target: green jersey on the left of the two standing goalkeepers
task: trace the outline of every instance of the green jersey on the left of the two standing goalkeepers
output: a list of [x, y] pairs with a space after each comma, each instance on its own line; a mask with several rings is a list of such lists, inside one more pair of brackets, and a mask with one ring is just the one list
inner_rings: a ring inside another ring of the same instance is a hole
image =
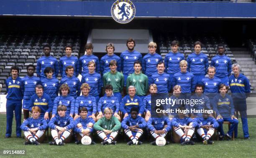
[[116, 71], [115, 74], [112, 74], [110, 71], [103, 74], [103, 84], [104, 87], [107, 84], [113, 86], [113, 92], [123, 92], [124, 77], [123, 74]]

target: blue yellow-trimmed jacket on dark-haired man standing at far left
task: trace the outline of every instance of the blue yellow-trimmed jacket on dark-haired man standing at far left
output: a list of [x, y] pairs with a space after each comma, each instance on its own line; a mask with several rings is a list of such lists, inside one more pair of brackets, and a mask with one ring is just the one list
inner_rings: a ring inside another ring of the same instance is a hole
[[21, 81], [20, 77], [17, 77], [15, 79], [15, 82], [13, 83], [13, 78], [10, 76], [8, 79], [6, 79], [6, 90], [7, 90], [7, 95], [6, 99], [12, 100], [15, 102], [20, 102], [23, 99], [24, 95], [24, 85], [23, 82]]

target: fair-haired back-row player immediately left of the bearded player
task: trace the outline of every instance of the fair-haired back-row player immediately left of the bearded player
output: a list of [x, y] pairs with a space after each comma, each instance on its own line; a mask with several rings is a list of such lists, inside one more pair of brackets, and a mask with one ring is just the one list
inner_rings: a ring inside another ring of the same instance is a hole
[[102, 56], [100, 59], [100, 72], [102, 73], [102, 75], [110, 71], [109, 63], [111, 60], [116, 61], [117, 70], [121, 72], [121, 59], [119, 56], [114, 54], [114, 51], [115, 51], [114, 44], [108, 43], [105, 50], [107, 54], [105, 56]]

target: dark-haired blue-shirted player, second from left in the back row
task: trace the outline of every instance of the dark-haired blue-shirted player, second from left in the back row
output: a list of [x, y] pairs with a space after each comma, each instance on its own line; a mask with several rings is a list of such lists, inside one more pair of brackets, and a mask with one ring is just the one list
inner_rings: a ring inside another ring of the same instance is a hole
[[67, 45], [65, 47], [66, 56], [62, 56], [59, 59], [59, 72], [61, 76], [64, 78], [67, 76], [66, 74], [66, 67], [73, 66], [74, 68], [74, 76], [79, 75], [79, 61], [76, 56], [72, 56], [72, 46]]

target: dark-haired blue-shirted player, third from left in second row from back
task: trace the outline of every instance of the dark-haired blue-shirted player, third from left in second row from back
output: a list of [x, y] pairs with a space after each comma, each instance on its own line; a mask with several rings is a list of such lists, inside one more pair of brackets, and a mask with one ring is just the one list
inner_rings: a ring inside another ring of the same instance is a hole
[[59, 94], [59, 80], [53, 77], [54, 69], [51, 67], [46, 67], [44, 74], [46, 78], [42, 78], [42, 86], [44, 87], [44, 92], [51, 97], [53, 102]]

